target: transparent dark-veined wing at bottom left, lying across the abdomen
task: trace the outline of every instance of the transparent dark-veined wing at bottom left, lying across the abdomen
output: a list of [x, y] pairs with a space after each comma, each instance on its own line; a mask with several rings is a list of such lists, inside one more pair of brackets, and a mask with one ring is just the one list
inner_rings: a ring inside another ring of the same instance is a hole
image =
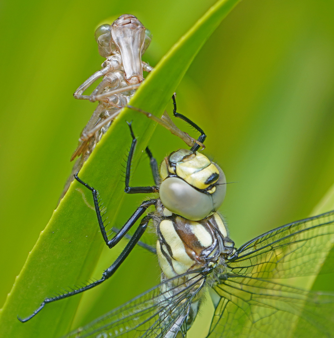
[[185, 337], [182, 324], [205, 276], [197, 271], [185, 284], [171, 287], [179, 278], [159, 284], [66, 337], [173, 338], [180, 328], [181, 337]]

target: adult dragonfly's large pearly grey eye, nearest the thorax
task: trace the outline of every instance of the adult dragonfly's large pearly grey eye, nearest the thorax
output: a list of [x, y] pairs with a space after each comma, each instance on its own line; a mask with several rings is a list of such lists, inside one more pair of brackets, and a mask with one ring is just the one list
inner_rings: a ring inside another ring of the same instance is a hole
[[178, 177], [166, 178], [160, 185], [159, 195], [168, 210], [191, 221], [207, 217], [213, 208], [211, 195], [196, 190]]

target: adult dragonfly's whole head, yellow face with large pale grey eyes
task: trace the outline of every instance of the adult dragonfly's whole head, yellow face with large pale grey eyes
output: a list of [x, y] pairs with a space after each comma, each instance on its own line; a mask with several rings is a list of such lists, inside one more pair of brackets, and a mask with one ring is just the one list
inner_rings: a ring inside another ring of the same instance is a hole
[[162, 161], [159, 195], [171, 212], [192, 221], [219, 209], [226, 194], [222, 169], [198, 151], [179, 149]]

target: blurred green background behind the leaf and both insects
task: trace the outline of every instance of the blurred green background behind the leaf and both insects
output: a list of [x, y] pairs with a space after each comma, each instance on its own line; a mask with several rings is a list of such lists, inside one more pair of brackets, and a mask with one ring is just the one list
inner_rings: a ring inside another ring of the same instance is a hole
[[[214, 2], [2, 2], [0, 304], [57, 205], [93, 112], [94, 104], [72, 93], [103, 62], [95, 28], [120, 14], [136, 15], [153, 34], [143, 59], [154, 66]], [[329, 0], [244, 0], [177, 89], [178, 112], [206, 131], [205, 153], [236, 182], [228, 185], [221, 212], [237, 246], [307, 217], [334, 183], [333, 17]], [[183, 146], [158, 126], [150, 147], [161, 161]], [[133, 182], [152, 182], [144, 156]], [[143, 198], [126, 196], [119, 224]], [[95, 291], [95, 303], [83, 298], [78, 325], [138, 294], [140, 273], [150, 278], [142, 291], [157, 283], [156, 260], [137, 251], [110, 281], [118, 303], [101, 305], [106, 283]], [[104, 256], [101, 269], [116, 254]], [[152, 271], [143, 270], [148, 262]]]

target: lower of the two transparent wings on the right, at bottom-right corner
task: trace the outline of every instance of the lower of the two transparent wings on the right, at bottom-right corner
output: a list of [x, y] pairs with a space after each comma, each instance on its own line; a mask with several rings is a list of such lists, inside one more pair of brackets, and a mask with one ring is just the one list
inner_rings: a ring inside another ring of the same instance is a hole
[[220, 300], [209, 338], [334, 336], [334, 294], [233, 275], [214, 290]]

